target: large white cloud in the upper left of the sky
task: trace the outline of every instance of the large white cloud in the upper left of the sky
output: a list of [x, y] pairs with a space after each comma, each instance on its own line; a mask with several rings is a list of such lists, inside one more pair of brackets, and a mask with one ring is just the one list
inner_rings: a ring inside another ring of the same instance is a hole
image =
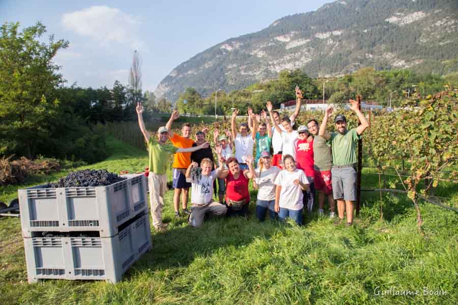
[[112, 42], [127, 45], [133, 50], [144, 46], [138, 38], [141, 22], [116, 8], [92, 6], [64, 14], [62, 23], [66, 29], [99, 41], [102, 46]]

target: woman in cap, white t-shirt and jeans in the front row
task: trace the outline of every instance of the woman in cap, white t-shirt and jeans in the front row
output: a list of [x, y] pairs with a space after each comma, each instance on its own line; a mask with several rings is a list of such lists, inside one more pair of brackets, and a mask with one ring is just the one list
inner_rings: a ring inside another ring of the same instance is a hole
[[257, 189], [256, 218], [264, 221], [266, 212], [269, 210], [270, 219], [277, 219], [275, 211], [275, 185], [274, 181], [281, 170], [272, 166], [272, 158], [269, 151], [264, 150], [260, 154], [259, 167], [255, 171], [253, 186]]

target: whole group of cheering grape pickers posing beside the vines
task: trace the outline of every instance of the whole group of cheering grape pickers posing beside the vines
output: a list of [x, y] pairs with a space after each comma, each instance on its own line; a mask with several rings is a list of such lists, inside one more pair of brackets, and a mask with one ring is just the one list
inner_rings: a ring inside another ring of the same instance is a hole
[[[302, 224], [304, 206], [312, 211], [314, 192], [318, 192], [318, 212], [324, 215], [324, 205], [329, 203], [329, 217], [335, 217], [337, 201], [338, 222], [347, 214], [347, 225], [353, 223], [356, 200], [356, 143], [368, 127], [356, 101], [350, 100], [360, 125], [347, 129], [347, 119], [334, 117], [336, 132], [327, 133], [326, 125], [333, 108], [329, 107], [321, 125], [311, 119], [306, 125], [293, 129], [298, 116], [302, 93], [296, 87], [296, 108], [290, 117], [280, 118], [267, 102], [267, 112], [254, 114], [248, 108], [248, 121], [237, 128], [235, 109], [231, 117], [231, 131], [214, 130], [215, 153], [205, 138], [208, 128], [190, 138], [191, 125], [183, 124], [182, 135], [171, 131], [173, 121], [179, 117], [173, 111], [167, 124], [160, 127], [157, 136], [150, 135], [142, 119], [143, 107], [136, 111], [141, 133], [148, 143], [149, 190], [153, 226], [166, 228], [162, 222], [162, 208], [166, 192], [166, 169], [173, 160], [173, 188], [175, 216], [185, 215], [191, 226], [198, 227], [206, 215], [246, 216], [251, 200], [249, 180], [257, 190], [256, 218], [264, 221], [267, 213], [271, 219], [291, 218]], [[167, 144], [170, 139], [171, 145]], [[253, 147], [256, 154], [253, 156]], [[271, 150], [273, 154], [271, 154]], [[216, 180], [218, 181], [217, 197]], [[188, 210], [189, 188], [191, 208]], [[180, 211], [181, 199], [181, 211]]]

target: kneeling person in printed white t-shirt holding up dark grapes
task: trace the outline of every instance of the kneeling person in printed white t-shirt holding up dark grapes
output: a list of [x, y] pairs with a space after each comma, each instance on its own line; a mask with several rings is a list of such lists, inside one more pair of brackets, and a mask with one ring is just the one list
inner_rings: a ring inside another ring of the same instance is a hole
[[192, 162], [186, 170], [186, 181], [191, 182], [191, 215], [189, 223], [193, 227], [200, 227], [207, 213], [212, 215], [224, 215], [227, 208], [213, 200], [213, 182], [224, 169], [224, 160], [221, 157], [221, 145], [216, 147], [219, 167], [212, 171], [213, 162], [209, 158], [201, 161], [201, 175], [191, 175], [193, 168], [197, 168], [197, 162]]

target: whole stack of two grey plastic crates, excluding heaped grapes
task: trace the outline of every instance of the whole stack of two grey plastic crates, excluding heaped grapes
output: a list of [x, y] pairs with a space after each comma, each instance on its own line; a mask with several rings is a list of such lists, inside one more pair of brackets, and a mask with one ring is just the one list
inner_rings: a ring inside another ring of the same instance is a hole
[[145, 175], [106, 187], [18, 191], [28, 282], [116, 283], [152, 247]]

